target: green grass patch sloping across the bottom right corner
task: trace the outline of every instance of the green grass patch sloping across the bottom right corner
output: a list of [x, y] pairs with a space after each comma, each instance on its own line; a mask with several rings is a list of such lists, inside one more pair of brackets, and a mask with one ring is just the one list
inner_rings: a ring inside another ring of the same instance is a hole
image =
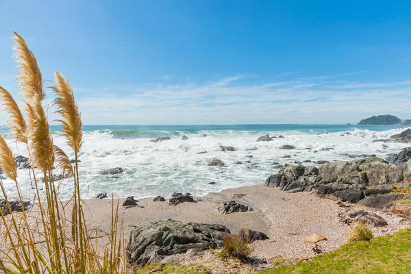
[[280, 266], [260, 274], [279, 273], [411, 273], [411, 228], [371, 241], [343, 245], [308, 262]]

